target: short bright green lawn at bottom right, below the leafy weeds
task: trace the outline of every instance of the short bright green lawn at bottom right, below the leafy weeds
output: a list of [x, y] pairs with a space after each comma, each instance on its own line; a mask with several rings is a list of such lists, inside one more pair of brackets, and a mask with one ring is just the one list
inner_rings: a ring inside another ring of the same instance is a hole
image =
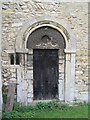
[[56, 110], [56, 111], [38, 112], [34, 116], [36, 118], [87, 118], [88, 112], [87, 112], [87, 107], [79, 106], [79, 107], [74, 107], [73, 109], [67, 111]]

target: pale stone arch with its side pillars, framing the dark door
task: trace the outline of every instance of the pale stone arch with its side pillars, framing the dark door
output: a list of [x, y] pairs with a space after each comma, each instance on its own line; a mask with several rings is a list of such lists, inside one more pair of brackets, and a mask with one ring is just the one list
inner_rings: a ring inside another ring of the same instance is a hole
[[[27, 72], [27, 54], [33, 55], [32, 50], [28, 50], [26, 47], [28, 37], [30, 34], [36, 29], [44, 26], [49, 26], [51, 28], [56, 29], [62, 34], [66, 48], [64, 49], [66, 55], [66, 65], [65, 65], [65, 91], [64, 91], [64, 100], [65, 102], [72, 103], [74, 101], [74, 82], [75, 82], [75, 53], [76, 53], [76, 39], [72, 30], [65, 24], [64, 21], [57, 20], [56, 18], [51, 18], [50, 16], [42, 16], [40, 18], [35, 18], [30, 20], [23, 26], [21, 29], [17, 40], [16, 40], [16, 51], [18, 53], [24, 54], [22, 57], [24, 58], [24, 66], [22, 65], [18, 68], [18, 91], [17, 91], [17, 100], [18, 102], [23, 102], [25, 104], [33, 101], [33, 88], [32, 88], [32, 80], [33, 80], [33, 71]], [[32, 57], [31, 57], [32, 59]], [[30, 68], [33, 69], [33, 68]], [[21, 72], [20, 72], [21, 71]], [[23, 74], [20, 77], [20, 74]], [[31, 75], [31, 80], [28, 79], [28, 75]], [[21, 79], [21, 80], [20, 80]], [[26, 81], [30, 81], [29, 83]], [[21, 84], [26, 84], [25, 89], [27, 89], [28, 84], [29, 89], [25, 90], [24, 88], [20, 88]], [[60, 85], [63, 84], [60, 82]], [[27, 87], [26, 87], [27, 86]], [[20, 90], [19, 90], [20, 89]], [[32, 89], [32, 92], [30, 90]], [[20, 96], [21, 94], [21, 96]], [[18, 97], [19, 96], [19, 97]], [[22, 99], [23, 98], [23, 99]], [[59, 99], [62, 99], [62, 93], [59, 93]]]

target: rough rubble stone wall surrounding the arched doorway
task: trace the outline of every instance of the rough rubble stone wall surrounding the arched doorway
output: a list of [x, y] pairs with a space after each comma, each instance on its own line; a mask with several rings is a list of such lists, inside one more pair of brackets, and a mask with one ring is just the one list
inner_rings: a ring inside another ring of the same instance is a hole
[[[19, 1], [2, 5], [2, 78], [7, 86], [10, 78], [15, 81], [15, 70], [10, 69], [8, 50], [15, 51], [19, 30], [29, 19], [50, 15], [64, 20], [76, 36], [75, 99], [88, 100], [88, 3], [60, 3]], [[12, 76], [12, 77], [11, 77]]]

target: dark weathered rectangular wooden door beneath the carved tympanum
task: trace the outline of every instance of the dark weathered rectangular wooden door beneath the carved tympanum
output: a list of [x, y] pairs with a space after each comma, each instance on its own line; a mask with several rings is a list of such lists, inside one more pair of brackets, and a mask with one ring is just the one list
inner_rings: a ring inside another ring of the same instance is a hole
[[33, 50], [34, 100], [58, 97], [58, 50]]

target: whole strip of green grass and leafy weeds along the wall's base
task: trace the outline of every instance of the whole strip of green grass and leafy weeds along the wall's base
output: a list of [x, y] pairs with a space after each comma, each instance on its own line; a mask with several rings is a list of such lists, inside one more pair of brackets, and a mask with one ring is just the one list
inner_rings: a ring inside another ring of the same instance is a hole
[[14, 105], [12, 112], [4, 112], [3, 118], [88, 118], [88, 105], [69, 106], [53, 101], [35, 106]]

